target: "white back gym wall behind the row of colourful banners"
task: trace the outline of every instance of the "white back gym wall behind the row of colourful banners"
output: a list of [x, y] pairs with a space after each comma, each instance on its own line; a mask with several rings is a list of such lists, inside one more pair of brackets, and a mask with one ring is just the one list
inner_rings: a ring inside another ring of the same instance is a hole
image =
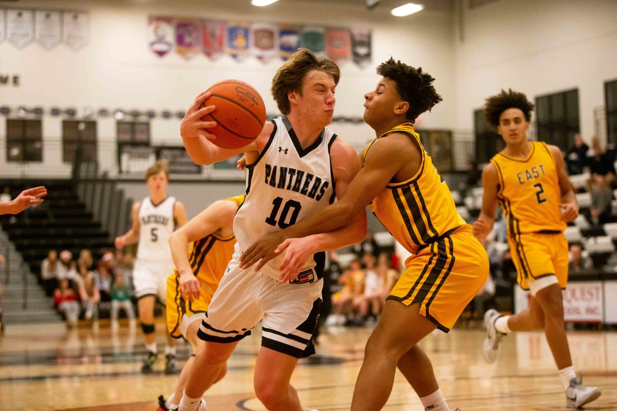
[[[455, 51], [453, 16], [446, 12], [424, 12], [405, 18], [392, 17], [387, 10], [369, 12], [358, 5], [327, 2], [280, 1], [269, 7], [249, 6], [249, 0], [23, 0], [2, 7], [87, 10], [91, 40], [73, 52], [61, 44], [51, 51], [39, 44], [18, 50], [8, 41], [0, 43], [0, 73], [17, 73], [19, 87], [2, 86], [0, 105], [16, 107], [151, 108], [185, 110], [194, 97], [210, 84], [226, 78], [251, 83], [262, 94], [268, 113], [277, 113], [270, 97], [270, 83], [280, 60], [267, 65], [249, 58], [238, 63], [230, 57], [211, 62], [204, 55], [186, 61], [173, 52], [162, 59], [146, 44], [148, 15], [223, 18], [274, 23], [319, 23], [321, 25], [368, 26], [373, 30], [373, 64], [359, 68], [342, 65], [337, 88], [337, 116], [362, 116], [363, 93], [375, 87], [378, 63], [394, 55], [410, 65], [421, 65], [435, 78], [444, 102], [422, 118], [424, 128], [452, 128], [455, 125]], [[342, 18], [344, 17], [344, 18]], [[31, 165], [6, 163], [6, 126], [0, 118], [0, 176], [66, 176], [70, 166], [61, 161], [61, 122], [44, 116], [44, 161]], [[181, 144], [180, 120], [156, 119], [151, 123], [153, 144]], [[113, 170], [115, 120], [98, 120], [99, 163]], [[333, 129], [358, 148], [374, 135], [364, 124], [334, 124]], [[112, 173], [113, 175], [113, 173]]]

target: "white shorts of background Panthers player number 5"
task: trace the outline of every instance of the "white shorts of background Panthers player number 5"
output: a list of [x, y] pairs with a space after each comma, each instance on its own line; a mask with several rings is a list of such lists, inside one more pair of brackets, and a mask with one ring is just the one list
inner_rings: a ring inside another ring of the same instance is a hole
[[172, 260], [144, 261], [136, 259], [135, 267], [133, 267], [135, 296], [139, 299], [147, 295], [154, 295], [161, 304], [165, 304], [167, 277], [172, 272]]

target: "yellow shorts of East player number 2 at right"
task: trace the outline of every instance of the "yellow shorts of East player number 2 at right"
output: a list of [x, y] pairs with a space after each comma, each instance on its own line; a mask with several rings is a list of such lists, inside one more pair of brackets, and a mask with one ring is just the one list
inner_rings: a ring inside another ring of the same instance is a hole
[[517, 234], [510, 236], [508, 243], [516, 267], [516, 281], [523, 290], [529, 290], [530, 283], [553, 274], [559, 286], [566, 288], [568, 240], [563, 233]]

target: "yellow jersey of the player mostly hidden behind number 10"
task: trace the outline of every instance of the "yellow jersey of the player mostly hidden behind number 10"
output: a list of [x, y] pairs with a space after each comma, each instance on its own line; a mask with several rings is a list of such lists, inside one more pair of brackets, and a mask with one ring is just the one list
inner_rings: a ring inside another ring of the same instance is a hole
[[[244, 201], [244, 195], [225, 198], [225, 200], [233, 201], [238, 205], [238, 208]], [[233, 256], [234, 245], [236, 245], [236, 237], [220, 237], [217, 234], [209, 234], [204, 238], [191, 243], [189, 248], [189, 263], [193, 269], [193, 274], [202, 283], [202, 286], [207, 288], [207, 293], [212, 296], [218, 287], [218, 283], [225, 274], [227, 264]], [[178, 274], [174, 269], [175, 274]]]

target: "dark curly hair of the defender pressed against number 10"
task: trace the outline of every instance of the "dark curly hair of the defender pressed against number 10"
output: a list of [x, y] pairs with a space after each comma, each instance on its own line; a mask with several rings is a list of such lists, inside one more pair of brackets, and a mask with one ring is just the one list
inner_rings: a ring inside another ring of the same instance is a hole
[[402, 100], [409, 103], [407, 120], [414, 121], [419, 115], [431, 111], [434, 105], [443, 99], [435, 91], [435, 79], [429, 73], [423, 73], [422, 68], [413, 68], [400, 60], [383, 62], [377, 68], [377, 74], [393, 80]]

